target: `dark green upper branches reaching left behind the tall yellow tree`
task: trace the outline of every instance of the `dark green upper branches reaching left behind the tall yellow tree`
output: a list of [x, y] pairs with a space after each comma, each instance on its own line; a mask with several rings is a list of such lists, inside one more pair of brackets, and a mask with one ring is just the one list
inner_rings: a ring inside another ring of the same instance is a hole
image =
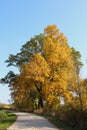
[[33, 54], [43, 53], [42, 52], [42, 40], [44, 39], [44, 35], [40, 34], [31, 38], [30, 41], [26, 42], [20, 52], [16, 55], [10, 54], [8, 60], [5, 62], [8, 64], [7, 66], [16, 66], [19, 67], [23, 64], [29, 63]]

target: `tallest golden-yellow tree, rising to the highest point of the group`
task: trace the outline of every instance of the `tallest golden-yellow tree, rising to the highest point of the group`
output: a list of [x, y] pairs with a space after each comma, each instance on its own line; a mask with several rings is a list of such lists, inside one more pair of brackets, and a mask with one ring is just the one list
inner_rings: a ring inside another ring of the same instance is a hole
[[44, 34], [46, 35], [43, 40], [44, 57], [51, 70], [50, 81], [44, 87], [48, 104], [52, 105], [54, 99], [57, 103], [60, 103], [61, 99], [69, 102], [71, 93], [68, 90], [68, 83], [73, 71], [72, 50], [56, 25], [45, 28]]

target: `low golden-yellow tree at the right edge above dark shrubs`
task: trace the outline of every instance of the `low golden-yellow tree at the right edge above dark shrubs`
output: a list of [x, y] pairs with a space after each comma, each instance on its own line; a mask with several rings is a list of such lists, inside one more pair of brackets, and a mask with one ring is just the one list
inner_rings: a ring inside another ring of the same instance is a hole
[[79, 80], [79, 88], [77, 87], [76, 91], [74, 90], [76, 96], [72, 99], [72, 105], [81, 112], [87, 111], [87, 79]]

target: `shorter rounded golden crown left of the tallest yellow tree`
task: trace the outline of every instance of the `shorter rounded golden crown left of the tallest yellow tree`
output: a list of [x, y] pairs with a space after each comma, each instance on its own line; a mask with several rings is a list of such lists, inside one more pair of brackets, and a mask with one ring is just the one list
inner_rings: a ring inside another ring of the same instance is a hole
[[31, 62], [25, 65], [24, 73], [28, 79], [44, 82], [50, 69], [45, 59], [40, 54], [35, 54]]

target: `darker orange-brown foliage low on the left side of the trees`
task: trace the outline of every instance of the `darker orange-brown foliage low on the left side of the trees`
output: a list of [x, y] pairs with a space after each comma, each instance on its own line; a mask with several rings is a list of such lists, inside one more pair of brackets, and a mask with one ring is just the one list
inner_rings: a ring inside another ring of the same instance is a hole
[[14, 100], [14, 106], [16, 107], [16, 109], [23, 110], [25, 107], [26, 99], [29, 98], [30, 94], [30, 89], [26, 86], [24, 75], [18, 75], [15, 78], [15, 81], [12, 83], [10, 89], [11, 97]]

